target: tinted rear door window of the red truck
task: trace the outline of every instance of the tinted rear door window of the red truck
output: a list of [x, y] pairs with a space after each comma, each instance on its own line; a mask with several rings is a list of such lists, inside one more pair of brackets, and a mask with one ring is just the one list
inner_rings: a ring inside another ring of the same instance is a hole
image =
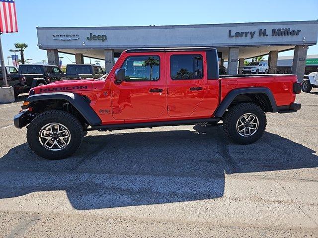
[[174, 80], [203, 78], [202, 55], [172, 55], [170, 73]]

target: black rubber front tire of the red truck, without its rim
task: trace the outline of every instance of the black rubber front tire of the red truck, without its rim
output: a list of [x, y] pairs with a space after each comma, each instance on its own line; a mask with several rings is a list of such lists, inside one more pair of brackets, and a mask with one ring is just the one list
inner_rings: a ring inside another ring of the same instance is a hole
[[[52, 151], [40, 143], [39, 132], [43, 126], [49, 123], [60, 123], [69, 130], [70, 142], [65, 148]], [[72, 155], [79, 148], [83, 134], [83, 128], [76, 117], [68, 112], [53, 110], [44, 112], [31, 121], [26, 138], [35, 154], [48, 160], [59, 160]]]

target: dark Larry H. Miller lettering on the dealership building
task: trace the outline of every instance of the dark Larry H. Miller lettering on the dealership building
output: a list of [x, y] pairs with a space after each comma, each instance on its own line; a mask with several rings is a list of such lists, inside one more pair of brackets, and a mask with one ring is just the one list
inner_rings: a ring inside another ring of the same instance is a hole
[[[271, 36], [298, 36], [300, 32], [301, 30], [291, 30], [290, 28], [273, 28], [271, 31]], [[232, 32], [232, 30], [229, 30], [229, 38], [250, 37], [250, 39], [253, 39], [255, 33], [256, 31]], [[267, 29], [259, 29], [256, 36], [268, 36]]]

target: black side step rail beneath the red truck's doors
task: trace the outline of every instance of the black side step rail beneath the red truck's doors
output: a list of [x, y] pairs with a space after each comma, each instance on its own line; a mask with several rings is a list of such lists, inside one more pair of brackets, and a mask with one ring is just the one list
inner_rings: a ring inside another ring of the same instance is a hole
[[215, 122], [219, 121], [219, 118], [206, 118], [206, 119], [190, 119], [190, 120], [168, 120], [168, 121], [155, 121], [155, 122], [141, 122], [141, 123], [127, 123], [127, 124], [108, 124], [108, 125], [96, 125], [87, 128], [86, 130], [122, 130], [122, 129], [135, 129], [145, 127], [156, 126], [168, 126], [168, 125], [193, 125], [199, 122]]

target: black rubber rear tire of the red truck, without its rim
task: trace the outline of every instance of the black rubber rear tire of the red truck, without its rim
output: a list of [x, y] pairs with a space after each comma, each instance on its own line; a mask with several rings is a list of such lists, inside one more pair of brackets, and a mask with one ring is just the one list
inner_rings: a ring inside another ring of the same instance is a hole
[[[237, 122], [244, 114], [253, 114], [258, 119], [258, 128], [254, 134], [244, 137], [237, 130]], [[266, 129], [266, 116], [264, 111], [252, 103], [240, 103], [233, 106], [223, 118], [223, 128], [225, 135], [232, 141], [239, 144], [251, 144], [257, 141]]]

